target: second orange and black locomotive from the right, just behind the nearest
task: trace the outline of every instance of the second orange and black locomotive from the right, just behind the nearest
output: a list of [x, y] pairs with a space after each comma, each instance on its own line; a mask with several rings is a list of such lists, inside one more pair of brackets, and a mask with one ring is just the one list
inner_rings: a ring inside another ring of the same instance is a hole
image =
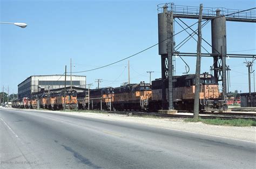
[[149, 109], [151, 94], [151, 85], [145, 82], [116, 87], [112, 102], [113, 109], [146, 111]]

